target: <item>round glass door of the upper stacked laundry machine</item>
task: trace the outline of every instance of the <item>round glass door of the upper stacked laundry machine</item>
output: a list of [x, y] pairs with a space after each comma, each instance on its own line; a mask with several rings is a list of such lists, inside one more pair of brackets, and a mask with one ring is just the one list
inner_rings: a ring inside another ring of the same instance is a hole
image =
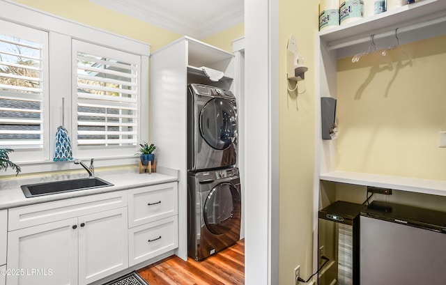
[[201, 137], [209, 146], [224, 150], [237, 132], [236, 111], [228, 100], [215, 98], [206, 103], [200, 114]]

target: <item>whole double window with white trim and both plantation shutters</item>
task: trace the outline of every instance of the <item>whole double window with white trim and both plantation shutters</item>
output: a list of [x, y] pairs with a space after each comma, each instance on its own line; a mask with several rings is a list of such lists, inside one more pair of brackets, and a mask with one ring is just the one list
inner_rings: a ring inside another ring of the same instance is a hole
[[22, 173], [77, 169], [53, 161], [63, 125], [73, 157], [134, 164], [148, 140], [150, 45], [8, 2], [0, 17], [0, 148], [14, 149], [10, 160]]

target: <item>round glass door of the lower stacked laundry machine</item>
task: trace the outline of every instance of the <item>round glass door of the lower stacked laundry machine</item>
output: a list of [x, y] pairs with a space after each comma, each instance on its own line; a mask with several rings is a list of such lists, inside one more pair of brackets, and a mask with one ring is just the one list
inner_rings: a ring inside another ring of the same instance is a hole
[[211, 233], [221, 235], [236, 227], [240, 219], [240, 194], [231, 183], [213, 188], [204, 203], [204, 222]]

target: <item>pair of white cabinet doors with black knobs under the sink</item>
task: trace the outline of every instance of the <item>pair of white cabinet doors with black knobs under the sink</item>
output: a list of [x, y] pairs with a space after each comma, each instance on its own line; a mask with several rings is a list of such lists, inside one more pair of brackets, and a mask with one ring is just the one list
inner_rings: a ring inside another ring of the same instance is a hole
[[128, 268], [127, 219], [118, 208], [10, 231], [7, 284], [83, 285]]

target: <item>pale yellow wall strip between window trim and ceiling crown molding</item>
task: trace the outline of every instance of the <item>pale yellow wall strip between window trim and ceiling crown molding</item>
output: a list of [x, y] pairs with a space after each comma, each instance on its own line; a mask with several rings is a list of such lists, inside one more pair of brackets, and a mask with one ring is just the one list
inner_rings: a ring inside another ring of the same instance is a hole
[[151, 44], [151, 52], [182, 36], [96, 5], [89, 0], [16, 0], [15, 2], [98, 29], [141, 40]]

